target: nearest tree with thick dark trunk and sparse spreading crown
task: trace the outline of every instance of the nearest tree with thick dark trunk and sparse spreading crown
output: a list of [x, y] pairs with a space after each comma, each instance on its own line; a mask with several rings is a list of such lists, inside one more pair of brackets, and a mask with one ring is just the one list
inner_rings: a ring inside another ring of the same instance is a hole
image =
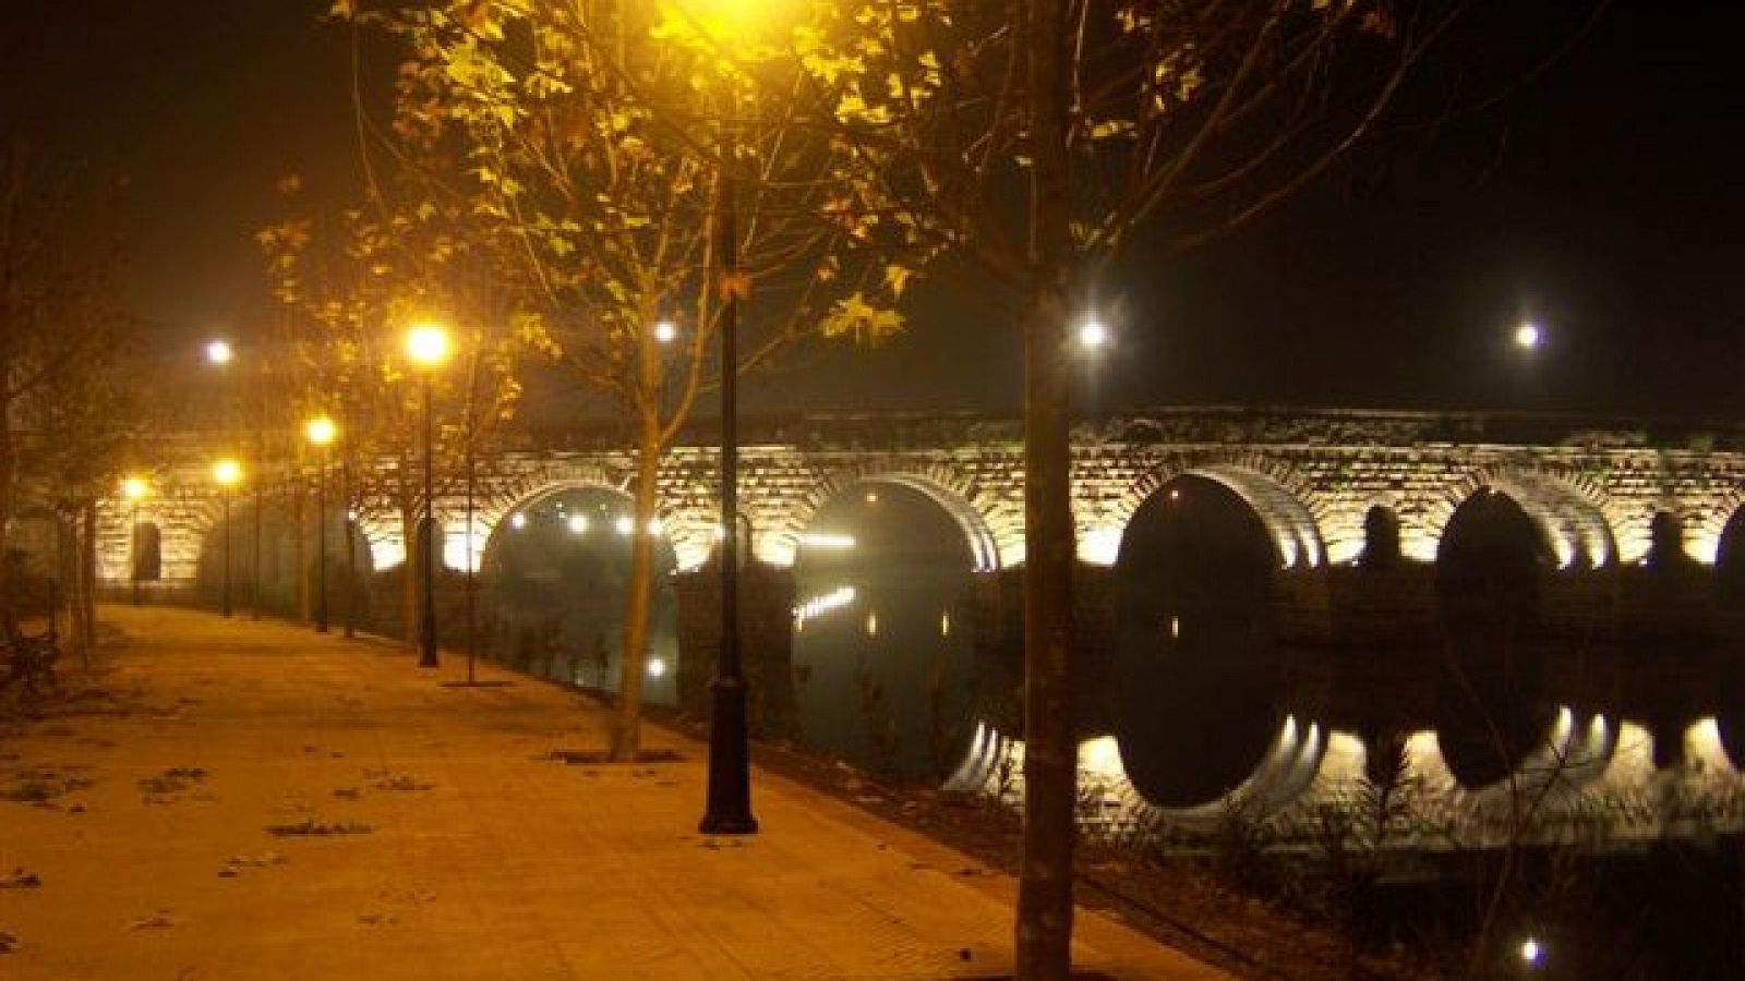
[[1075, 738], [1068, 318], [1309, 185], [1394, 103], [1461, 0], [817, 2], [796, 54], [853, 148], [841, 213], [1014, 321], [1024, 347], [1024, 861], [1017, 972], [1064, 978]]

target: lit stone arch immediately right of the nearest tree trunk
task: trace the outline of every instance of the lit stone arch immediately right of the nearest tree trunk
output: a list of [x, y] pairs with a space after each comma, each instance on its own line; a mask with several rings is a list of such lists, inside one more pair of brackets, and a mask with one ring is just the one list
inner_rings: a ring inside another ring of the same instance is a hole
[[1249, 452], [1183, 454], [1160, 461], [1096, 511], [1077, 515], [1078, 557], [1112, 566], [1133, 515], [1178, 477], [1215, 480], [1253, 508], [1267, 527], [1281, 569], [1312, 569], [1326, 562], [1319, 496], [1293, 468]]

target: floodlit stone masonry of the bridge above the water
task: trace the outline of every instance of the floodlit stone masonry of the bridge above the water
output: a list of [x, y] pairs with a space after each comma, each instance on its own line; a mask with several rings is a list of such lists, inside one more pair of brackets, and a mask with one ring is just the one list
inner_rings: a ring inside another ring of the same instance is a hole
[[[794, 559], [799, 534], [832, 496], [857, 482], [925, 490], [963, 527], [986, 567], [1024, 560], [1023, 443], [1010, 421], [981, 417], [806, 417], [752, 428], [740, 454], [740, 499], [752, 548], [766, 562]], [[1722, 438], [1733, 442], [1721, 443]], [[1715, 559], [1721, 532], [1745, 503], [1745, 443], [1736, 431], [1577, 428], [1485, 415], [1290, 414], [1174, 410], [1080, 426], [1073, 440], [1073, 513], [1080, 555], [1110, 564], [1120, 532], [1146, 497], [1178, 475], [1225, 484], [1263, 518], [1281, 567], [1356, 559], [1363, 518], [1387, 508], [1408, 559], [1433, 562], [1441, 529], [1471, 494], [1509, 494], [1564, 562], [1632, 564], [1647, 552], [1659, 511], [1680, 518], [1686, 552]], [[583, 442], [597, 442], [583, 440]], [[1717, 449], [1719, 445], [1719, 449]], [[161, 466], [161, 494], [140, 504], [159, 525], [162, 576], [192, 581], [222, 497], [195, 445]], [[180, 457], [180, 459], [176, 459]], [[707, 559], [719, 536], [719, 457], [681, 445], [660, 470], [660, 520], [682, 567]], [[475, 553], [506, 515], [564, 487], [628, 492], [623, 449], [518, 447], [480, 463]], [[283, 485], [283, 484], [281, 484]], [[237, 503], [248, 503], [248, 490]], [[398, 564], [405, 543], [387, 501], [359, 501], [375, 569]], [[443, 480], [438, 522], [452, 566], [464, 564], [464, 487]], [[101, 506], [99, 574], [127, 580], [133, 508]]]

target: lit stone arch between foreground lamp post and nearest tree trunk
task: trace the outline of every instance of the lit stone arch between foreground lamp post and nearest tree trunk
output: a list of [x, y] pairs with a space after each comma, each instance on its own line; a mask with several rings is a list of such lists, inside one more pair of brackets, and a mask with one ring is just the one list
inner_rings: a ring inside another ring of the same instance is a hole
[[975, 560], [975, 571], [1000, 569], [1023, 562], [1024, 515], [1005, 501], [979, 490], [965, 480], [951, 461], [871, 459], [843, 466], [813, 484], [792, 508], [766, 529], [757, 529], [757, 557], [777, 566], [792, 566], [799, 536], [818, 510], [855, 484], [897, 484], [925, 494], [956, 522]]

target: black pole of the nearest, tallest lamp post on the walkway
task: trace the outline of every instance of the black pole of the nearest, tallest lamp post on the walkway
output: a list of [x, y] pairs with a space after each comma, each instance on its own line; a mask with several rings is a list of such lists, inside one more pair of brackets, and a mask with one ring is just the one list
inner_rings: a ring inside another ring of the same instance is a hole
[[[735, 99], [735, 106], [738, 99]], [[721, 655], [710, 683], [708, 799], [698, 831], [703, 834], [756, 834], [750, 803], [750, 745], [745, 726], [745, 676], [740, 665], [738, 574], [738, 229], [733, 133], [722, 129], [721, 168], [715, 171], [717, 290], [721, 307]]]

